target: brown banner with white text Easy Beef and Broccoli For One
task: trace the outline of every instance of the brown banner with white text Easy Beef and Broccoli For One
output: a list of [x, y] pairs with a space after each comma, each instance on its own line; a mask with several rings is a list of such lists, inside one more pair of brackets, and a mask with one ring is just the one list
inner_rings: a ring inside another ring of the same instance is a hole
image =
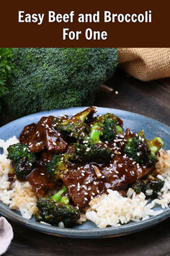
[[169, 1], [1, 1], [1, 47], [168, 47]]

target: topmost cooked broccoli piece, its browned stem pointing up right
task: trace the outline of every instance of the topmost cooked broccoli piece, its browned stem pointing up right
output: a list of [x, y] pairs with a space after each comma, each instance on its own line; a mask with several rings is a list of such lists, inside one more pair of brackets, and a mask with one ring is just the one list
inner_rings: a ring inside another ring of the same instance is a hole
[[65, 132], [66, 135], [69, 135], [70, 137], [76, 138], [77, 140], [83, 140], [89, 133], [89, 126], [84, 121], [88, 116], [93, 116], [95, 112], [95, 107], [86, 108], [84, 111], [57, 124], [56, 128], [61, 129], [61, 131]]

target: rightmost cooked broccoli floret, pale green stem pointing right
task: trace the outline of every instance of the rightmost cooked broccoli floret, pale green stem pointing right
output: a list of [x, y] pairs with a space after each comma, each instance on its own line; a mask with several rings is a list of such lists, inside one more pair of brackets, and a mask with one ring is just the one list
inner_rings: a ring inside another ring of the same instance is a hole
[[128, 139], [124, 152], [137, 163], [152, 167], [157, 161], [156, 153], [163, 146], [164, 142], [160, 137], [156, 137], [151, 141], [146, 140], [142, 130]]

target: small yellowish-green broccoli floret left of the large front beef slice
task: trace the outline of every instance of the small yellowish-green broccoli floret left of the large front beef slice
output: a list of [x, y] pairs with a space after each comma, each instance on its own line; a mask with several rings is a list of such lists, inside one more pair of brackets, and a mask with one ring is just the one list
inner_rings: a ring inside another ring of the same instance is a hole
[[53, 155], [53, 159], [47, 165], [48, 174], [52, 179], [63, 179], [68, 173], [68, 155]]

